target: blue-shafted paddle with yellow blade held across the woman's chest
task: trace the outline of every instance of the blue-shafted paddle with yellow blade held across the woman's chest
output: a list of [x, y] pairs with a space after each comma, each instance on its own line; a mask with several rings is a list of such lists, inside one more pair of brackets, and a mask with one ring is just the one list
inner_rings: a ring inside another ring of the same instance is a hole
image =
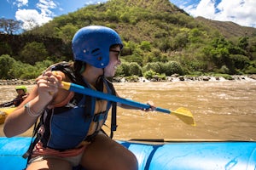
[[[94, 96], [94, 97], [100, 98], [100, 99], [107, 99], [110, 101], [119, 102], [121, 104], [130, 105], [130, 106], [137, 107], [140, 109], [149, 109], [150, 108], [150, 105], [142, 104], [137, 101], [133, 101], [131, 99], [123, 99], [123, 98], [114, 96], [112, 94], [104, 94], [102, 92], [99, 92], [99, 91], [96, 91], [96, 90], [93, 90], [90, 88], [84, 88], [84, 86], [80, 86], [73, 82], [62, 82], [62, 85], [63, 86], [61, 88], [64, 88], [66, 90], [73, 91], [73, 92], [76, 92], [79, 94], [90, 95], [90, 96]], [[183, 107], [178, 108], [176, 111], [169, 111], [166, 109], [162, 109], [160, 107], [156, 107], [155, 111], [160, 111], [160, 112], [168, 113], [168, 114], [172, 113], [172, 115], [177, 116], [180, 120], [182, 120], [186, 124], [195, 126], [194, 117], [193, 117], [192, 113]]]

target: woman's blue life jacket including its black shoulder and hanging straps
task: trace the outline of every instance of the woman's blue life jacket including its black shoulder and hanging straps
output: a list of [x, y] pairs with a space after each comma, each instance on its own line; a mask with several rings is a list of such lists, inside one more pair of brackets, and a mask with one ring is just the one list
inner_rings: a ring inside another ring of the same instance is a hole
[[[81, 82], [74, 76], [73, 70], [67, 62], [54, 65], [51, 71], [62, 71], [74, 83], [91, 88], [87, 82]], [[103, 93], [115, 95], [112, 82], [102, 77]], [[24, 154], [24, 158], [32, 154], [32, 149], [40, 140], [44, 147], [55, 150], [68, 150], [75, 148], [82, 141], [94, 139], [101, 131], [102, 125], [108, 117], [108, 110], [112, 106], [111, 138], [116, 130], [116, 103], [95, 97], [74, 93], [66, 105], [45, 109], [40, 117], [40, 122], [34, 128], [33, 136], [36, 138], [30, 145], [29, 150]], [[39, 133], [38, 129], [44, 127], [44, 133]]]

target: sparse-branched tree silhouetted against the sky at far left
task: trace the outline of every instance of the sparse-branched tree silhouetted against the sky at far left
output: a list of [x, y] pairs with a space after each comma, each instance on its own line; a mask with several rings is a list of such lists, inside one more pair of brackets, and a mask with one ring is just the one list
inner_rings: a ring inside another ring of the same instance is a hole
[[21, 22], [18, 20], [12, 20], [12, 19], [0, 19], [0, 32], [4, 34], [14, 34], [15, 32], [18, 32]]

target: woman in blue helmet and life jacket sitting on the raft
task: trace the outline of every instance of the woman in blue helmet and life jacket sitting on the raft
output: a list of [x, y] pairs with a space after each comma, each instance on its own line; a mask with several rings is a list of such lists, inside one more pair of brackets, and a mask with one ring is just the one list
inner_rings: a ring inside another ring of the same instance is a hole
[[[7, 117], [4, 133], [12, 137], [37, 122], [38, 137], [27, 169], [137, 169], [130, 150], [102, 133], [112, 102], [74, 94], [61, 81], [115, 94], [113, 77], [120, 65], [123, 44], [117, 32], [104, 26], [86, 26], [73, 37], [74, 64], [54, 65], [37, 78], [28, 98]], [[126, 109], [136, 109], [121, 105]]]

